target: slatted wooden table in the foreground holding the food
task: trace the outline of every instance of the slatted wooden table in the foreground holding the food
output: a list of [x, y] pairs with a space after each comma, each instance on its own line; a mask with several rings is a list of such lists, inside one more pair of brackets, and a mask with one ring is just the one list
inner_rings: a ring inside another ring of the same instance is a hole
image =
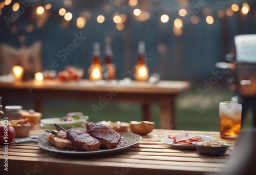
[[[40, 135], [44, 129], [32, 130]], [[230, 144], [223, 157], [202, 156], [197, 150], [172, 149], [161, 138], [178, 133], [177, 130], [154, 129], [136, 145], [108, 155], [63, 156], [41, 150], [34, 142], [8, 146], [10, 174], [205, 174], [220, 171], [232, 154], [234, 141], [222, 140], [219, 132], [199, 132]], [[3, 172], [3, 145], [0, 145], [0, 172]], [[1, 173], [2, 174], [2, 173]]]

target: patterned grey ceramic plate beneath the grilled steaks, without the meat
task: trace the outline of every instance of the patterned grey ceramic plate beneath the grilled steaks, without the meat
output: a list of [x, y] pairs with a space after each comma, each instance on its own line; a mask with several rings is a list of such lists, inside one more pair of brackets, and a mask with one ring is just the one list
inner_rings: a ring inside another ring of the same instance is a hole
[[65, 154], [65, 155], [97, 155], [97, 154], [106, 154], [110, 152], [117, 152], [124, 149], [129, 148], [132, 145], [139, 143], [142, 139], [141, 136], [133, 133], [119, 133], [122, 137], [125, 137], [128, 141], [126, 146], [114, 149], [103, 149], [103, 150], [96, 150], [96, 151], [75, 151], [69, 149], [57, 149], [55, 146], [51, 145], [47, 137], [49, 133], [43, 133], [37, 138], [37, 145], [40, 149], [48, 150], [51, 152], [56, 152], [57, 154]]

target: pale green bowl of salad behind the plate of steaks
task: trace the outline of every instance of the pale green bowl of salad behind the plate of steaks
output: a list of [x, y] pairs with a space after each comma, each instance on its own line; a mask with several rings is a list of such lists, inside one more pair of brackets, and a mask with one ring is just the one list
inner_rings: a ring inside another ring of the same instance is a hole
[[88, 119], [89, 117], [84, 116], [82, 113], [68, 113], [65, 117], [61, 118], [41, 119], [40, 126], [49, 130], [56, 130], [54, 126], [54, 123], [56, 123], [65, 129], [70, 129], [81, 126], [82, 124], [86, 123]]

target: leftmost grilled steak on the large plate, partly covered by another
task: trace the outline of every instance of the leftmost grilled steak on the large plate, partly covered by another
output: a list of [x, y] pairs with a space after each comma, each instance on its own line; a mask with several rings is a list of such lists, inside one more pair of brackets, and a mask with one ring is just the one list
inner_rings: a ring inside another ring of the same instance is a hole
[[[63, 131], [65, 132], [65, 131]], [[65, 132], [66, 133], [66, 132]], [[47, 138], [48, 142], [51, 143], [52, 145], [61, 148], [61, 149], [75, 149], [76, 147], [73, 145], [73, 143], [69, 139], [65, 138], [60, 138], [57, 136], [54, 136], [50, 134]]]

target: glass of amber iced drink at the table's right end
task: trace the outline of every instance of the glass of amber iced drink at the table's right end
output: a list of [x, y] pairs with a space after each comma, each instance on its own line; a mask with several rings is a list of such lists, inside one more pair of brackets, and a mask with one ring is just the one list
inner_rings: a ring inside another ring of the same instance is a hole
[[220, 135], [222, 138], [237, 138], [241, 128], [242, 104], [236, 101], [220, 102]]

